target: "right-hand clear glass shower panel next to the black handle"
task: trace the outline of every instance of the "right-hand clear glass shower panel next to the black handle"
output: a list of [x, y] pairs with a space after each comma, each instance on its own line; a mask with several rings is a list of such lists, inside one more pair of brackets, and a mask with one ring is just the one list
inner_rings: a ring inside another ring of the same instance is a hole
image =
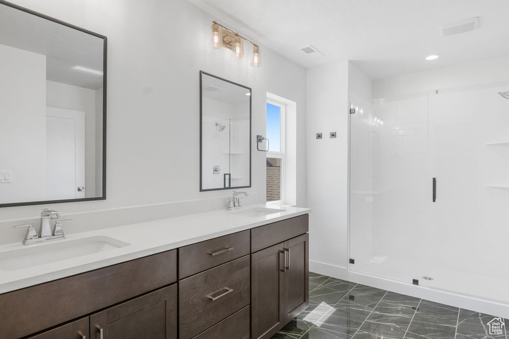
[[509, 302], [509, 82], [430, 92], [429, 286]]

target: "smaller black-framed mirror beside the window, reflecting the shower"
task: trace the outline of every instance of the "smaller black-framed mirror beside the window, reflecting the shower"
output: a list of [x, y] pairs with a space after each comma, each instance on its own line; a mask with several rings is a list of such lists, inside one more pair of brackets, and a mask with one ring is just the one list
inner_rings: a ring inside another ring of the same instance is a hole
[[251, 88], [200, 71], [200, 191], [251, 187]]

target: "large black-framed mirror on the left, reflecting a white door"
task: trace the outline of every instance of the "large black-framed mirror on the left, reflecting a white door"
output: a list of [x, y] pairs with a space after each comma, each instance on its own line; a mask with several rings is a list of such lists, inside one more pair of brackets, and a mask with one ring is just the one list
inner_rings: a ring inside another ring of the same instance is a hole
[[0, 207], [106, 199], [106, 41], [0, 0]]

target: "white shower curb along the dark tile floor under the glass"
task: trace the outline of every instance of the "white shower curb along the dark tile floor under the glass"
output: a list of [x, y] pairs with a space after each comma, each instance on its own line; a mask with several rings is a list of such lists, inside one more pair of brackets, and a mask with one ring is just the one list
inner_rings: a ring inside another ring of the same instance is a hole
[[[311, 270], [310, 267], [311, 262], [309, 261], [309, 269]], [[412, 285], [409, 283], [403, 283], [395, 280], [380, 278], [378, 276], [354, 271], [347, 271], [347, 275], [348, 280], [354, 283], [373, 286], [387, 291], [402, 293], [417, 298], [427, 299], [451, 306], [461, 307], [462, 309], [466, 310], [477, 311], [509, 319], [509, 304], [507, 303], [497, 302], [495, 300], [489, 299], [476, 298], [470, 295], [453, 293], [425, 286]]]

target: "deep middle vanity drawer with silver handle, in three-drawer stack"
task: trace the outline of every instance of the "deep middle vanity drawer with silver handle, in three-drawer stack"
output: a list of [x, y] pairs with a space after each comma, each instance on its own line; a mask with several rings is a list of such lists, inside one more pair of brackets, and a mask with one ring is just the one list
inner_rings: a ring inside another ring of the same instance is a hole
[[200, 334], [249, 304], [250, 258], [179, 281], [180, 339]]

